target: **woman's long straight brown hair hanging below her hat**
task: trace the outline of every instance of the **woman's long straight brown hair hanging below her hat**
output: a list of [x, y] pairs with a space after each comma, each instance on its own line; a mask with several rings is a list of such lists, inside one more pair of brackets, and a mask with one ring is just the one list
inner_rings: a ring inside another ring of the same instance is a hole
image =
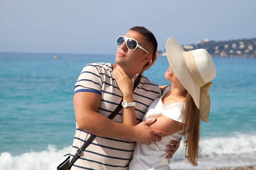
[[186, 91], [183, 109], [183, 135], [185, 137], [185, 157], [193, 166], [197, 166], [200, 140], [200, 112], [192, 96]]

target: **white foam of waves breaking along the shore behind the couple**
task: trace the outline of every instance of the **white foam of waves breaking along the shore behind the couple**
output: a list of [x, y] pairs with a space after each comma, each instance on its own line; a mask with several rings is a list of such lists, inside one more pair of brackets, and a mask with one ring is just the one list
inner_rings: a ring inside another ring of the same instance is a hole
[[[210, 169], [213, 167], [244, 166], [256, 164], [256, 135], [237, 134], [228, 138], [203, 139], [198, 167], [192, 167], [184, 159], [183, 147], [175, 153], [171, 162], [173, 169]], [[1, 153], [0, 170], [55, 170], [70, 153], [71, 146], [57, 150], [49, 145], [41, 152], [28, 152], [20, 155]]]

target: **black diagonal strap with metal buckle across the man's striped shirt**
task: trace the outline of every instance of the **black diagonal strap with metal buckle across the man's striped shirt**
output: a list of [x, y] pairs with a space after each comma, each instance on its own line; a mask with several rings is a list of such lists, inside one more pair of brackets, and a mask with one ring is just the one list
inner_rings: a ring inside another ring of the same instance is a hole
[[[139, 76], [137, 77], [137, 79], [136, 79], [135, 82], [134, 82], [134, 87], [133, 87], [133, 90], [132, 90], [132, 91], [134, 91], [135, 88], [139, 85], [139, 83], [140, 83], [140, 77], [141, 77], [141, 75], [139, 74]], [[122, 101], [123, 101], [123, 99], [122, 99]], [[117, 106], [117, 108], [108, 116], [108, 119], [113, 119], [113, 118], [116, 116], [116, 114], [122, 109], [122, 101], [119, 103], [119, 105]], [[96, 137], [96, 135], [93, 135], [93, 134], [92, 134], [92, 135], [89, 137], [89, 139], [88, 139], [86, 142], [84, 142], [83, 146], [81, 146], [81, 147], [76, 151], [76, 155], [74, 155], [73, 159], [71, 159], [68, 169], [70, 169], [70, 168], [73, 166], [73, 164], [75, 163], [75, 161], [76, 161], [77, 159], [79, 159], [79, 157], [80, 157], [81, 154], [83, 153], [83, 150], [85, 150], [85, 149], [87, 148], [87, 146], [93, 141], [93, 139], [94, 139], [95, 137]]]

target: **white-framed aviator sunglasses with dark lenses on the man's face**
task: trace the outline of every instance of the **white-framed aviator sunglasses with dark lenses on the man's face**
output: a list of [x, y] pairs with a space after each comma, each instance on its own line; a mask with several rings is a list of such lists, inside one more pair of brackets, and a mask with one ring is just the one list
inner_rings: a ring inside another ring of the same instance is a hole
[[[120, 47], [123, 43], [126, 42], [126, 46], [129, 50], [134, 51], [136, 50], [137, 47], [139, 47], [140, 49], [143, 49], [144, 51], [146, 51], [142, 46], [139, 45], [139, 43], [137, 42], [137, 40], [134, 40], [132, 38], [127, 38], [124, 36], [119, 36], [116, 39], [116, 46]], [[146, 51], [148, 54], [149, 52]]]

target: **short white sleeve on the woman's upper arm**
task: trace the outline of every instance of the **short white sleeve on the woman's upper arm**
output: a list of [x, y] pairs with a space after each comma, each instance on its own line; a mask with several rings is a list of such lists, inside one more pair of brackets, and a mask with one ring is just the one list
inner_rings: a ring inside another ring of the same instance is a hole
[[166, 116], [169, 119], [175, 120], [177, 122], [183, 123], [182, 120], [182, 113], [183, 113], [183, 104], [181, 103], [174, 103], [169, 105], [169, 108], [166, 108], [162, 113], [161, 116]]

